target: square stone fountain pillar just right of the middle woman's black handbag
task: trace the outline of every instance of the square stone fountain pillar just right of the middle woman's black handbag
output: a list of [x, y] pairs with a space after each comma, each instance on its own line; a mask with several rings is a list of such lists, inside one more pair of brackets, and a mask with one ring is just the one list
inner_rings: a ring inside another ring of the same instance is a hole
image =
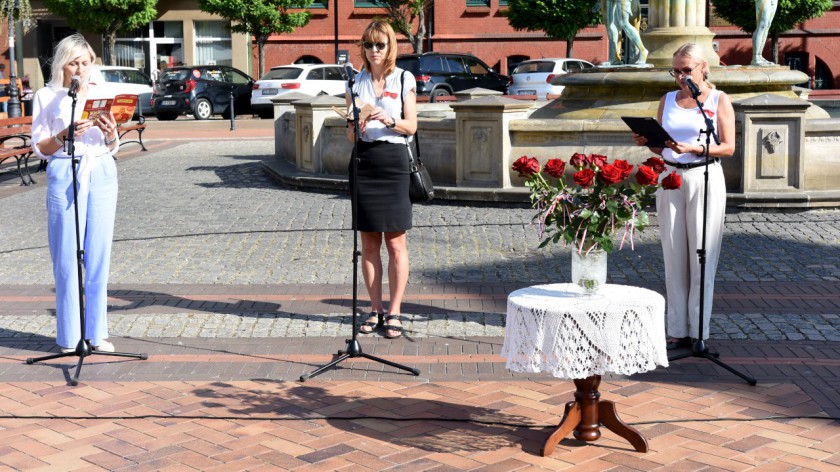
[[455, 110], [455, 183], [510, 188], [510, 122], [528, 117], [530, 101], [483, 97], [450, 105]]

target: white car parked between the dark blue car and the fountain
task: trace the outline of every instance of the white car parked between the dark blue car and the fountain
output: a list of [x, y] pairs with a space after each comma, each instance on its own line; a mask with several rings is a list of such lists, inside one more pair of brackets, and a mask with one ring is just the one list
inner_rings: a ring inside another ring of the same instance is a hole
[[552, 79], [584, 69], [592, 69], [589, 62], [580, 59], [532, 59], [516, 66], [510, 75], [508, 95], [536, 95], [545, 100], [546, 95], [559, 95], [562, 85], [551, 85]]

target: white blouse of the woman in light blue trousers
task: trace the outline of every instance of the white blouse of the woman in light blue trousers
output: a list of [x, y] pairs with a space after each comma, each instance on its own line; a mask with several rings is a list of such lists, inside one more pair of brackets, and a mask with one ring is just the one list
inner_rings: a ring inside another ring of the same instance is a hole
[[[89, 83], [87, 96], [97, 96], [95, 95], [96, 91], [96, 84]], [[84, 100], [80, 99], [76, 103], [76, 116], [73, 120], [70, 119], [72, 103], [73, 99], [67, 95], [66, 88], [47, 86], [35, 93], [35, 98], [32, 100], [32, 151], [42, 159], [49, 159], [53, 156], [70, 157], [64, 148], [59, 149], [52, 156], [43, 154], [38, 149], [37, 143], [44, 138], [61, 133], [73, 121], [82, 118], [82, 110], [85, 106]], [[77, 157], [93, 158], [112, 154], [108, 146], [105, 146], [105, 134], [98, 126], [92, 126], [84, 134], [76, 135], [74, 138]], [[119, 133], [117, 134], [117, 145], [113, 152], [116, 153], [117, 149], [119, 149]]]

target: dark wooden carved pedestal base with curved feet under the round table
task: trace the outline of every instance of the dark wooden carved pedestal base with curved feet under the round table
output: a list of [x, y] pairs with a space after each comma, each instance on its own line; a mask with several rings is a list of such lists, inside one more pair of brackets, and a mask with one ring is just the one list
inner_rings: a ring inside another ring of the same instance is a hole
[[541, 456], [551, 455], [557, 443], [572, 431], [579, 441], [596, 441], [601, 437], [601, 425], [629, 441], [637, 452], [648, 452], [647, 439], [638, 430], [621, 421], [615, 410], [615, 403], [609, 400], [599, 401], [600, 384], [600, 375], [575, 379], [575, 401], [566, 403], [563, 419], [545, 441], [540, 451]]

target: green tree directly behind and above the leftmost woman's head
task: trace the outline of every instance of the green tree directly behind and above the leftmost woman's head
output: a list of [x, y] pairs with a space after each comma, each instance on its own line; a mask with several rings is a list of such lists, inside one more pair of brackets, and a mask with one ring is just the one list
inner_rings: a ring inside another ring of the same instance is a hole
[[105, 38], [102, 62], [116, 65], [117, 31], [148, 25], [157, 17], [157, 0], [44, 0], [54, 14], [67, 19], [71, 28]]

